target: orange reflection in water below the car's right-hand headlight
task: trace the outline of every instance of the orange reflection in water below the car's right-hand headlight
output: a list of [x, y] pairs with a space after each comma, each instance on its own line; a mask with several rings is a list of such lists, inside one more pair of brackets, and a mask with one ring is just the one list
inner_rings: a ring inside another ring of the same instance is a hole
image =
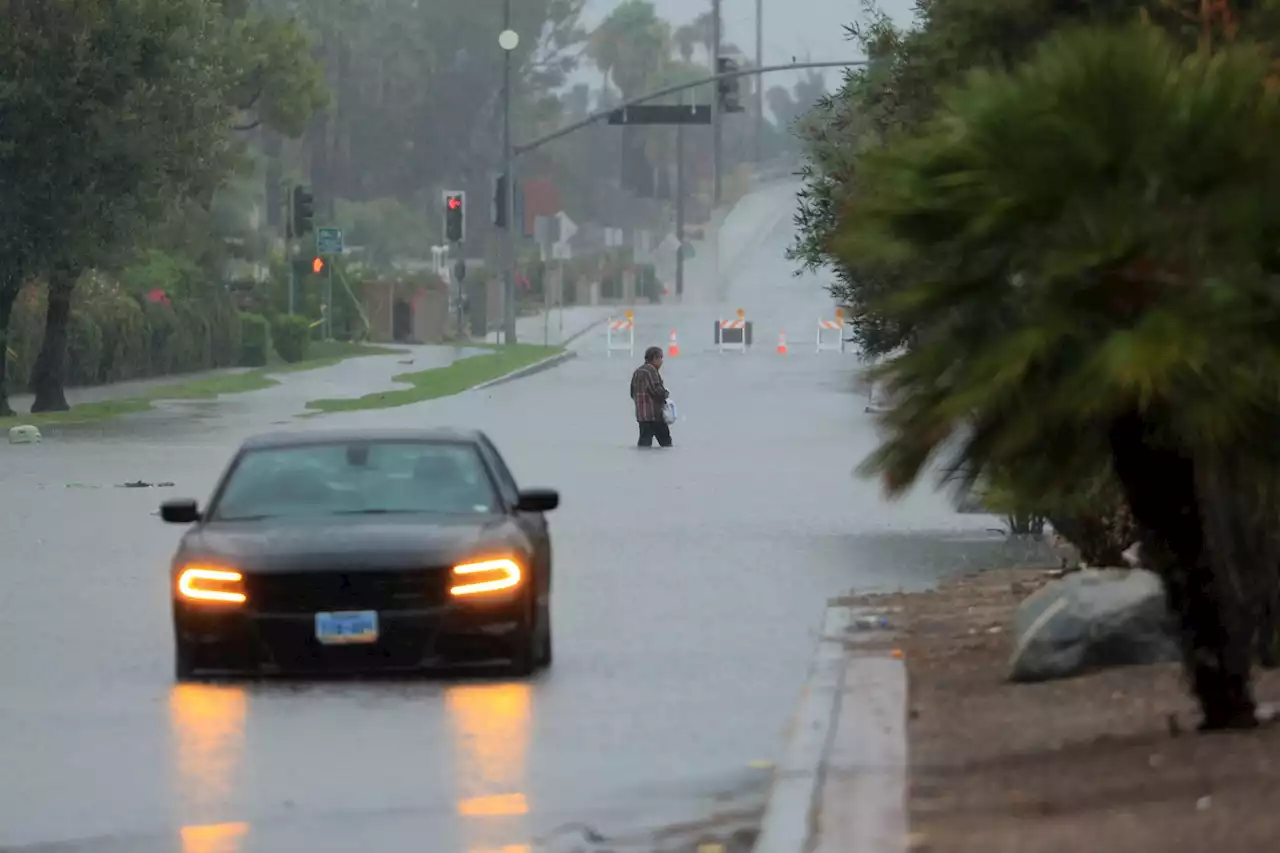
[[[458, 802], [468, 853], [529, 853], [504, 844], [529, 813], [527, 753], [532, 692], [518, 683], [449, 688], [444, 703], [457, 753]], [[497, 821], [493, 818], [498, 818]], [[503, 820], [506, 818], [506, 820]], [[512, 825], [512, 820], [518, 821]], [[503, 841], [498, 841], [498, 838]]]

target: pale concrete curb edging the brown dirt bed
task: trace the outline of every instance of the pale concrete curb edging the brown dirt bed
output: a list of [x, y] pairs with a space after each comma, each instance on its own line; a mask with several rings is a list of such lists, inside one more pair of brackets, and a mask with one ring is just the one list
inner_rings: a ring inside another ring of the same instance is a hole
[[906, 667], [851, 633], [881, 615], [827, 608], [754, 853], [908, 849]]

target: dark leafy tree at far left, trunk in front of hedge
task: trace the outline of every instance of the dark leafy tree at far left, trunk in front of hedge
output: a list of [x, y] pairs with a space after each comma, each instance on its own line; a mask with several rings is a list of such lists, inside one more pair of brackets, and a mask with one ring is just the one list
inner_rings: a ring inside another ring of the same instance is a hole
[[[232, 77], [216, 6], [198, 0], [4, 0], [0, 164], [20, 238], [12, 269], [50, 286], [33, 411], [67, 409], [70, 296], [175, 200], [227, 173]], [[20, 280], [20, 279], [19, 279]]]

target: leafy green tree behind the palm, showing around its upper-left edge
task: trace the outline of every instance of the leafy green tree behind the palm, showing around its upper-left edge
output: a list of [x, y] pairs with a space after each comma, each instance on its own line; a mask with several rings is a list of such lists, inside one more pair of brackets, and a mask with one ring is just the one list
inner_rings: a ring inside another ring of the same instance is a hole
[[1280, 5], [1256, 0], [916, 0], [916, 26], [910, 31], [895, 27], [876, 0], [861, 0], [861, 10], [863, 22], [847, 32], [869, 64], [847, 70], [841, 90], [823, 99], [800, 126], [809, 163], [803, 169], [791, 257], [809, 270], [833, 270], [832, 295], [849, 307], [852, 339], [872, 356], [909, 343], [910, 329], [887, 324], [872, 306], [914, 273], [909, 263], [849, 268], [831, 251], [836, 211], [858, 193], [860, 147], [918, 127], [932, 115], [940, 92], [965, 73], [1012, 68], [1061, 27], [1144, 18], [1189, 50], [1242, 28], [1280, 32]]

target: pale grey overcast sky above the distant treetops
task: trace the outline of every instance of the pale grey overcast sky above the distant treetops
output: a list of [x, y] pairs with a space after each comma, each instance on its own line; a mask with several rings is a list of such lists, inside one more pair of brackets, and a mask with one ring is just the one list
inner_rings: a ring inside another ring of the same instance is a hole
[[[855, 47], [845, 38], [845, 27], [861, 14], [859, 0], [763, 0], [764, 64], [826, 61], [852, 58]], [[677, 27], [710, 9], [710, 0], [653, 0], [658, 14]], [[618, 0], [586, 0], [586, 26], [598, 24]], [[911, 22], [913, 0], [879, 0], [879, 6], [899, 24]], [[755, 0], [721, 0], [724, 41], [748, 56], [755, 54]], [[790, 79], [788, 79], [790, 78]], [[788, 85], [794, 74], [774, 74], [773, 85]], [[827, 77], [835, 88], [838, 69]], [[593, 79], [598, 81], [598, 77]]]

